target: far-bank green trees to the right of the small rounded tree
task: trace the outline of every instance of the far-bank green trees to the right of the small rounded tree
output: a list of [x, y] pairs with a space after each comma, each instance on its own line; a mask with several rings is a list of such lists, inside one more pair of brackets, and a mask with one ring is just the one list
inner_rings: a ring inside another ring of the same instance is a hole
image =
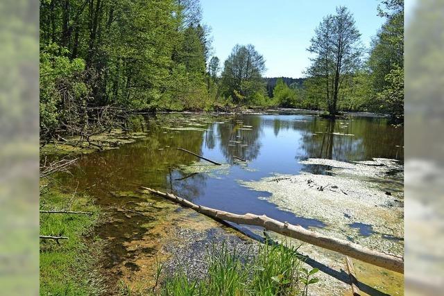
[[360, 43], [355, 19], [336, 8], [316, 28], [306, 78], [267, 78], [268, 95], [282, 107], [383, 112], [404, 116], [404, 1], [385, 0], [377, 14], [386, 21], [370, 49]]

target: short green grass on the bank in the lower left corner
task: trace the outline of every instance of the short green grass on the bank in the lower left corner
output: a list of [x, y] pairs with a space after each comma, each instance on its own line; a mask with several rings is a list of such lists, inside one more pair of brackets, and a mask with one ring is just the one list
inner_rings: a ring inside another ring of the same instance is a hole
[[[48, 186], [49, 187], [49, 186]], [[40, 235], [67, 236], [68, 240], [40, 240], [40, 295], [97, 295], [99, 284], [94, 277], [97, 243], [86, 243], [98, 220], [99, 209], [86, 195], [43, 189], [40, 209], [91, 211], [83, 214], [40, 214]], [[94, 241], [93, 238], [89, 240]]]

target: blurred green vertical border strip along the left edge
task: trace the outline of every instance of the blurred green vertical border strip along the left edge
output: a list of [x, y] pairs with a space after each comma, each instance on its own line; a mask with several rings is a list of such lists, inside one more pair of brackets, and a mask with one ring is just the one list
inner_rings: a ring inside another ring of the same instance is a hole
[[0, 1], [0, 295], [38, 295], [39, 1]]

